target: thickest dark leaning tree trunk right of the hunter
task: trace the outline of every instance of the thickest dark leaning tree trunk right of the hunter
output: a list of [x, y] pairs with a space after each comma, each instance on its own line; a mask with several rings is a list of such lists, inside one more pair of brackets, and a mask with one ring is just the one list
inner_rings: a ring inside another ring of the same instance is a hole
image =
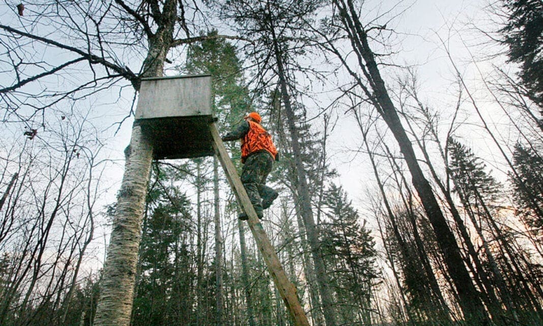
[[[452, 233], [438, 198], [422, 170], [413, 144], [405, 127], [403, 127], [399, 110], [397, 110], [390, 97], [389, 90], [382, 77], [380, 66], [382, 64], [380, 61], [382, 55], [372, 51], [373, 46], [370, 45], [370, 42], [375, 41], [373, 33], [376, 30], [381, 31], [384, 26], [369, 27], [368, 23], [362, 22], [361, 18], [364, 15], [359, 8], [363, 2], [334, 0], [332, 3], [336, 16], [332, 17], [330, 21], [325, 21], [326, 26], [338, 23], [340, 26], [339, 32], [344, 32], [344, 36], [348, 37], [350, 41], [355, 60], [345, 58], [343, 50], [338, 51], [332, 41], [326, 43], [325, 49], [332, 51], [340, 58], [343, 66], [355, 80], [356, 85], [364, 93], [365, 100], [375, 107], [381, 118], [386, 122], [388, 129], [394, 135], [411, 173], [411, 182], [418, 193], [420, 203], [436, 235], [435, 239], [437, 239], [439, 249], [443, 255], [447, 274], [450, 275], [454, 289], [458, 294], [457, 299], [464, 319], [473, 324], [488, 323], [488, 312], [484, 308], [479, 293], [472, 282], [471, 275], [464, 265], [457, 239]], [[320, 30], [316, 30], [316, 32], [321, 33]], [[337, 39], [338, 35], [330, 37]], [[356, 63], [352, 64], [351, 62]]]

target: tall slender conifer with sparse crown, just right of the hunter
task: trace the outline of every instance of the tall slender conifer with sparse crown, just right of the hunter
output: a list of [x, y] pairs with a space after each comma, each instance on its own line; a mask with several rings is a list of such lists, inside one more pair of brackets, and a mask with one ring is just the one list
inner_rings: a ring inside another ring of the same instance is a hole
[[[310, 40], [302, 33], [302, 26], [314, 21], [320, 2], [315, 1], [226, 1], [223, 17], [233, 20], [238, 30], [255, 40], [248, 47], [248, 53], [254, 58], [261, 71], [256, 77], [261, 86], [267, 87], [270, 80], [277, 80], [280, 89], [281, 108], [286, 115], [286, 122], [291, 139], [293, 153], [293, 171], [296, 178], [297, 209], [304, 220], [308, 243], [311, 248], [315, 267], [316, 282], [323, 306], [326, 326], [335, 326], [336, 313], [333, 309], [332, 293], [326, 274], [323, 258], [318, 247], [318, 234], [315, 228], [311, 207], [310, 186], [307, 173], [301, 159], [301, 142], [298, 134], [294, 104], [298, 95], [294, 72], [302, 70], [295, 57], [305, 53]], [[307, 72], [307, 71], [306, 71]]]

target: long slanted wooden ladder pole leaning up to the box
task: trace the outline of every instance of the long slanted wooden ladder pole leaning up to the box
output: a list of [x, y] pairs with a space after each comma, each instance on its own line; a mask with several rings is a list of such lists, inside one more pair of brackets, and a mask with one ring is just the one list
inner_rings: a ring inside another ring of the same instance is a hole
[[236, 167], [230, 160], [230, 156], [228, 155], [228, 152], [226, 152], [226, 148], [223, 145], [223, 141], [220, 139], [217, 127], [214, 123], [210, 125], [210, 131], [213, 137], [213, 148], [215, 149], [219, 162], [223, 166], [226, 178], [236, 195], [239, 205], [249, 217], [247, 222], [249, 223], [252, 235], [255, 237], [258, 250], [260, 250], [262, 257], [268, 266], [268, 271], [274, 280], [277, 290], [279, 290], [279, 293], [283, 298], [283, 302], [287, 306], [287, 310], [291, 315], [294, 325], [310, 326], [304, 309], [302, 309], [298, 296], [296, 295], [296, 287], [288, 280], [285, 271], [283, 271], [281, 262], [275, 253], [275, 248], [271, 245], [268, 235], [264, 232], [262, 224], [256, 216], [255, 209], [252, 207], [249, 196], [247, 196], [247, 192], [241, 183], [241, 179], [239, 179]]

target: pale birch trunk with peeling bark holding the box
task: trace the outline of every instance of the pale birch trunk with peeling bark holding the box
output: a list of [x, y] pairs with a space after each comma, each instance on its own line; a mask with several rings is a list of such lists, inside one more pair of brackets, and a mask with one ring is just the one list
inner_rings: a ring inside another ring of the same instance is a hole
[[[162, 26], [149, 38], [149, 51], [143, 61], [142, 77], [161, 77], [166, 54], [173, 39], [173, 23], [176, 16], [175, 5], [165, 8], [167, 13]], [[167, 11], [169, 10], [169, 11]], [[147, 183], [153, 160], [153, 147], [143, 136], [141, 126], [134, 122], [129, 145], [127, 162], [121, 190], [117, 198], [117, 209], [113, 217], [108, 257], [104, 262], [100, 297], [96, 308], [95, 326], [129, 326], [138, 249], [141, 240], [141, 220]]]

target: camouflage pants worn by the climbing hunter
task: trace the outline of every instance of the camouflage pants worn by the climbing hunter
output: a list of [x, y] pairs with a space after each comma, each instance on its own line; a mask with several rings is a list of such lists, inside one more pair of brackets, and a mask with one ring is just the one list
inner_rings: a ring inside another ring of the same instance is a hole
[[275, 192], [266, 185], [266, 178], [272, 167], [273, 158], [266, 152], [250, 155], [243, 165], [241, 182], [257, 212], [262, 212], [262, 198], [269, 198]]

